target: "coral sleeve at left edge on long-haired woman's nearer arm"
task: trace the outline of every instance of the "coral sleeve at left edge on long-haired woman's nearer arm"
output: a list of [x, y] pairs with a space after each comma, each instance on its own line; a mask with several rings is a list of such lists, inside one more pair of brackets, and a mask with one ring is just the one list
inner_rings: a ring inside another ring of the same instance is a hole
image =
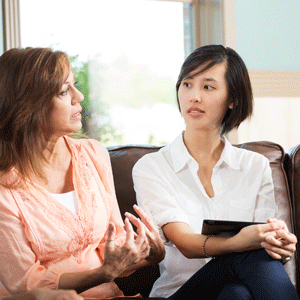
[[0, 280], [12, 294], [36, 287], [58, 288], [61, 275], [36, 259], [26, 238], [27, 225], [9, 190], [0, 187]]

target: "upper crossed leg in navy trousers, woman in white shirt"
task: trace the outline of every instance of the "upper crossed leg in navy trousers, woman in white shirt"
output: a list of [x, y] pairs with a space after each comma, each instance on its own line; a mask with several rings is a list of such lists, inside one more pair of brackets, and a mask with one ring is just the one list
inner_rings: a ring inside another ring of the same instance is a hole
[[217, 299], [221, 291], [241, 283], [255, 299], [299, 299], [280, 261], [264, 249], [220, 256], [194, 274], [170, 299], [209, 292]]

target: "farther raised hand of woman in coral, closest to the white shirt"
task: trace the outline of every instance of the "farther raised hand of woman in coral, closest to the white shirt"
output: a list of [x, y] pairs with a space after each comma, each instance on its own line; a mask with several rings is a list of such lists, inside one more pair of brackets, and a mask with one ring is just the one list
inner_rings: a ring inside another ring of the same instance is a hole
[[[157, 226], [152, 222], [144, 210], [137, 205], [134, 205], [133, 208], [145, 225], [146, 236], [150, 245], [150, 253], [146, 259], [151, 263], [159, 263], [165, 257], [165, 247], [162, 239], [160, 238]], [[130, 213], [126, 213], [126, 216], [134, 225], [137, 224], [138, 219], [135, 216]]]

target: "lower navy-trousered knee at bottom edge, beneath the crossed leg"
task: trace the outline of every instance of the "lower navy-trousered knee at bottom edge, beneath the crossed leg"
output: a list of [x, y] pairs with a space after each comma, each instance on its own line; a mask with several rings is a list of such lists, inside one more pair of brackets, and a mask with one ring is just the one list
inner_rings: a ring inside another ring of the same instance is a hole
[[253, 300], [250, 290], [244, 284], [235, 283], [227, 285], [217, 300]]

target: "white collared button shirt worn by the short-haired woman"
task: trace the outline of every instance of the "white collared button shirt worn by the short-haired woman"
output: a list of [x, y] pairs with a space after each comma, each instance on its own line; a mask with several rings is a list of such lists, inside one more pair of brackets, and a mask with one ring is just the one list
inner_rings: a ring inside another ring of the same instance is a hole
[[180, 134], [170, 145], [142, 157], [133, 168], [139, 206], [158, 225], [166, 246], [160, 278], [151, 297], [169, 297], [209, 259], [188, 259], [166, 239], [161, 227], [184, 222], [201, 233], [203, 219], [263, 221], [277, 213], [269, 160], [239, 149], [223, 138], [225, 147], [213, 169], [210, 198], [197, 175], [198, 163]]

